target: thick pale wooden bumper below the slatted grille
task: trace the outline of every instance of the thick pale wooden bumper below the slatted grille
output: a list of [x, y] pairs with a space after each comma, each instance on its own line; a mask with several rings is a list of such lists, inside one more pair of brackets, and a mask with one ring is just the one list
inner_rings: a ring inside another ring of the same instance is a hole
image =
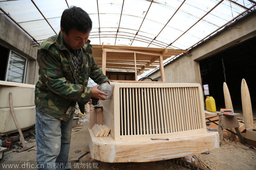
[[92, 159], [103, 162], [151, 162], [195, 155], [219, 147], [218, 132], [172, 137], [169, 140], [118, 140], [95, 137], [88, 129]]

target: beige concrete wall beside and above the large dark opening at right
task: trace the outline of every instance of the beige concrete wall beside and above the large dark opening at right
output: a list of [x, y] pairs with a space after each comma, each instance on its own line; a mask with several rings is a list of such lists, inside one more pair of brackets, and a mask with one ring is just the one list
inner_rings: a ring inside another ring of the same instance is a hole
[[[164, 66], [164, 75], [166, 83], [200, 83], [201, 74], [199, 61], [215, 55], [229, 47], [248, 40], [256, 36], [256, 13], [252, 12], [248, 16], [233, 23], [209, 40], [205, 41], [190, 50], [191, 56], [180, 56], [173, 62]], [[149, 77], [156, 79], [160, 77], [160, 71], [157, 71]]]

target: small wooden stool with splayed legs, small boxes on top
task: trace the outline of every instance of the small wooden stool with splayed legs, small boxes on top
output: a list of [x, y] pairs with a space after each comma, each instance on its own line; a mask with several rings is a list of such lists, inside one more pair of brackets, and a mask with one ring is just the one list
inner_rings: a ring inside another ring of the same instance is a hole
[[[242, 144], [245, 144], [245, 140], [243, 135], [241, 134], [241, 130], [239, 128], [239, 122], [236, 117], [241, 116], [241, 114], [233, 113], [233, 114], [220, 114], [219, 116], [219, 135], [220, 135], [220, 146], [222, 145], [223, 141], [223, 129], [227, 129], [231, 133], [234, 133], [239, 137], [239, 140]], [[229, 130], [230, 128], [235, 128], [236, 133]]]

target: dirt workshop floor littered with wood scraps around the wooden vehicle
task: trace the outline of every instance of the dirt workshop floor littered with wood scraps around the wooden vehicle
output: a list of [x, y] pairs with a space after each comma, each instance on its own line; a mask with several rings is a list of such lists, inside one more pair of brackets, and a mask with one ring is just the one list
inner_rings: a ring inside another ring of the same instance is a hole
[[[255, 122], [255, 121], [254, 121]], [[211, 123], [208, 128], [218, 129], [217, 125]], [[69, 151], [69, 162], [71, 169], [100, 169], [100, 170], [188, 170], [181, 165], [173, 163], [173, 159], [162, 160], [155, 162], [144, 163], [105, 163], [94, 160], [91, 158], [90, 152], [79, 159], [78, 162], [72, 160], [77, 159], [87, 149], [88, 145], [88, 128], [89, 128], [89, 114], [86, 114], [79, 118], [79, 124], [77, 129], [73, 129], [71, 146]], [[33, 131], [33, 128], [31, 128]], [[29, 129], [29, 130], [31, 130]], [[28, 132], [27, 130], [26, 132]], [[24, 131], [23, 131], [24, 132]], [[33, 132], [32, 132], [33, 133]], [[35, 136], [29, 133], [29, 136], [25, 138], [26, 146], [32, 146], [35, 144]], [[11, 134], [13, 135], [13, 134]], [[256, 150], [249, 148], [246, 145], [245, 149], [236, 147], [229, 144], [239, 144], [234, 138], [227, 137], [227, 132], [224, 132], [223, 146], [210, 152], [197, 154], [192, 158], [192, 163], [205, 167], [205, 169], [211, 170], [256, 170]], [[228, 142], [229, 144], [226, 144]], [[15, 148], [18, 146], [15, 144]], [[36, 146], [24, 152], [12, 152], [16, 149], [12, 148], [11, 151], [4, 152], [4, 161], [0, 163], [0, 169], [36, 169]], [[197, 158], [197, 159], [194, 159]], [[200, 161], [199, 161], [200, 160]], [[7, 168], [4, 166], [13, 166]], [[19, 168], [14, 168], [14, 165], [19, 165]], [[209, 168], [206, 168], [206, 166]]]

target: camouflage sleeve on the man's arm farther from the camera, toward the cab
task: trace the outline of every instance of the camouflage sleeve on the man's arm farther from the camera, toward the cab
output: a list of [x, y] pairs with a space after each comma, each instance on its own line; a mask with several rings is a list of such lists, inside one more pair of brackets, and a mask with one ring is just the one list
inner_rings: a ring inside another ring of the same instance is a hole
[[107, 76], [105, 76], [102, 72], [102, 69], [97, 66], [97, 63], [93, 59], [93, 56], [92, 56], [92, 67], [91, 67], [90, 78], [92, 78], [92, 80], [98, 85], [105, 82], [109, 83]]

